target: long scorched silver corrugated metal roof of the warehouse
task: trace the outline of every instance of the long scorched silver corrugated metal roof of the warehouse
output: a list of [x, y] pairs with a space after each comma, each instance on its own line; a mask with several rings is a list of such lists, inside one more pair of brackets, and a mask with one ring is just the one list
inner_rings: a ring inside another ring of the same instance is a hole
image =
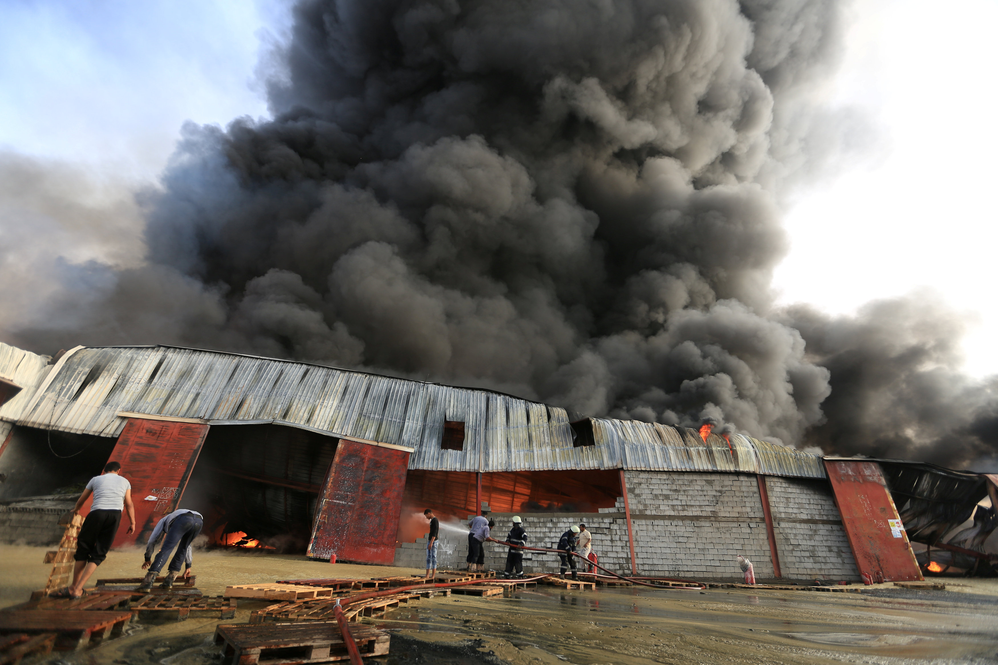
[[[177, 347], [79, 348], [57, 364], [18, 424], [117, 436], [137, 412], [207, 422], [273, 422], [414, 449], [411, 469], [728, 471], [824, 478], [821, 458], [735, 435], [592, 419], [573, 447], [564, 409], [487, 390]], [[445, 420], [464, 450], [442, 450]]]

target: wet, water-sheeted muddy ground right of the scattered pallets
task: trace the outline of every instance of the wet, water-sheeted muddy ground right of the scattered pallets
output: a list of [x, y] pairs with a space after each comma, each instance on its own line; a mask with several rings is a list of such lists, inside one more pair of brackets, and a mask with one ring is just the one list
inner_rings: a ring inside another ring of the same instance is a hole
[[[998, 663], [988, 604], [913, 603], [862, 594], [651, 589], [433, 598], [375, 625], [393, 632], [382, 662]], [[397, 638], [397, 639], [396, 639]], [[396, 648], [396, 643], [398, 648]]]

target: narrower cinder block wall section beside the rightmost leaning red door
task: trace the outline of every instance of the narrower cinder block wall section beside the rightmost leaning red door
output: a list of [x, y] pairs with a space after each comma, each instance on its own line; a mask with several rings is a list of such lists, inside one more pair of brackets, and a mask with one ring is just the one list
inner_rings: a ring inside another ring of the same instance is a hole
[[859, 571], [828, 483], [767, 476], [765, 485], [783, 576], [858, 581]]

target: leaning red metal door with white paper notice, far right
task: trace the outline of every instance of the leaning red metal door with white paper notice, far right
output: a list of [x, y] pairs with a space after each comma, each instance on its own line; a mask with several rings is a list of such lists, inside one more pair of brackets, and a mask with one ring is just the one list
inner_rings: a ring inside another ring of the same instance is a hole
[[875, 462], [825, 460], [856, 566], [864, 579], [922, 579], [901, 518]]

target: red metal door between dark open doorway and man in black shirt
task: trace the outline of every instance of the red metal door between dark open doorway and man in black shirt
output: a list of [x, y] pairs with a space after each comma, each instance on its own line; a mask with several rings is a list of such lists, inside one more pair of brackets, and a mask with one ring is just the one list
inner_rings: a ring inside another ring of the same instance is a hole
[[409, 454], [340, 439], [322, 484], [308, 556], [390, 564]]

